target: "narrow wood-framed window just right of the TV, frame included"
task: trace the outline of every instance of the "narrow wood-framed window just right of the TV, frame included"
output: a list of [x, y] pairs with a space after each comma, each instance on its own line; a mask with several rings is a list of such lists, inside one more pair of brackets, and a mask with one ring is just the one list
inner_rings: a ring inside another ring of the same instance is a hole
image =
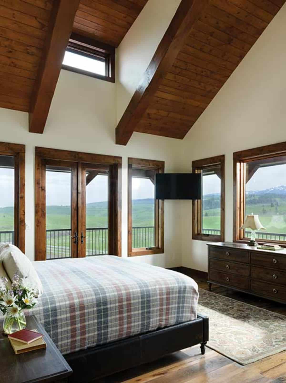
[[202, 199], [192, 204], [192, 239], [224, 241], [224, 155], [192, 162], [202, 175]]

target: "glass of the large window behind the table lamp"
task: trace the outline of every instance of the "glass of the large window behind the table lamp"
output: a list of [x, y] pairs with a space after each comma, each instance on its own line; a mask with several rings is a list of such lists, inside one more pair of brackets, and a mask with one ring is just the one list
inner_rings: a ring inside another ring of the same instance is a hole
[[[286, 157], [245, 164], [245, 214], [258, 214], [266, 231], [256, 238], [286, 241]], [[250, 229], [246, 229], [250, 237]]]

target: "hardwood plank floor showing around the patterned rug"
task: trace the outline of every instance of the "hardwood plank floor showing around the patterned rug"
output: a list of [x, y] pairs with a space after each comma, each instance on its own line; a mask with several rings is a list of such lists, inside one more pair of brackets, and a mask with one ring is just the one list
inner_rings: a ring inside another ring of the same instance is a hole
[[[194, 278], [199, 287], [208, 290], [206, 274], [187, 268], [177, 271]], [[263, 298], [235, 292], [213, 285], [214, 293], [253, 304], [275, 313], [286, 315], [286, 305]], [[286, 383], [286, 351], [241, 366], [236, 362], [207, 348], [201, 355], [199, 346], [181, 350], [154, 363], [94, 381], [94, 383]]]

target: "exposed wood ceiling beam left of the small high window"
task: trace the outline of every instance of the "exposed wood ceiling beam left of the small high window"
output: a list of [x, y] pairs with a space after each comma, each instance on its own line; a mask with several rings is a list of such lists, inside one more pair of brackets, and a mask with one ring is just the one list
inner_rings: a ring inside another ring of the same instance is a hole
[[79, 0], [54, 0], [48, 33], [33, 89], [29, 132], [43, 133], [72, 31]]

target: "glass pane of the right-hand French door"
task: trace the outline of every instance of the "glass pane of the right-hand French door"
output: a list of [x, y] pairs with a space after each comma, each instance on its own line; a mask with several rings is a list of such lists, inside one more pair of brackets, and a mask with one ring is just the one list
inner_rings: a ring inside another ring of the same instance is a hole
[[86, 255], [108, 254], [108, 171], [86, 171]]

